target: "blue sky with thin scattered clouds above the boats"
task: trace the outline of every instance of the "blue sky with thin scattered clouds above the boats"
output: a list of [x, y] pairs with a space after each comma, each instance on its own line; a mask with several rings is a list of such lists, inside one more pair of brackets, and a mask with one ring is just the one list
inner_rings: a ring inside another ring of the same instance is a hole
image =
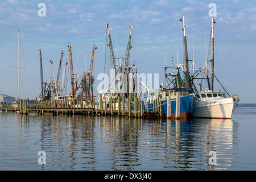
[[[42, 11], [40, 3], [46, 5]], [[106, 23], [109, 24], [115, 55], [125, 57], [130, 25], [134, 26], [130, 62], [138, 73], [158, 74], [164, 79], [164, 64], [183, 61], [183, 33], [179, 19], [184, 16], [188, 57], [203, 67], [209, 49], [212, 6], [214, 16], [215, 73], [240, 103], [256, 103], [256, 1], [0, 1], [0, 91], [17, 97], [18, 30], [20, 30], [20, 98], [35, 99], [40, 94], [42, 49], [44, 81], [55, 74], [61, 50], [69, 61], [71, 42], [75, 73], [89, 69], [93, 44], [94, 80], [104, 72]], [[40, 14], [44, 12], [43, 14]], [[42, 16], [43, 15], [43, 16]], [[207, 45], [207, 48], [205, 48]], [[178, 56], [177, 56], [178, 52]], [[69, 83], [70, 84], [70, 83]], [[216, 85], [217, 88], [217, 85]], [[96, 90], [96, 89], [94, 89]], [[95, 91], [94, 95], [98, 95]]]

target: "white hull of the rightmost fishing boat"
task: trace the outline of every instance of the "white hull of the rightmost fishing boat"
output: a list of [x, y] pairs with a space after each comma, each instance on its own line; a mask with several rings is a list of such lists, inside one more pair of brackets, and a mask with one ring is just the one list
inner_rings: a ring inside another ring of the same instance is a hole
[[192, 117], [230, 119], [239, 101], [237, 97], [228, 97], [197, 102]]

